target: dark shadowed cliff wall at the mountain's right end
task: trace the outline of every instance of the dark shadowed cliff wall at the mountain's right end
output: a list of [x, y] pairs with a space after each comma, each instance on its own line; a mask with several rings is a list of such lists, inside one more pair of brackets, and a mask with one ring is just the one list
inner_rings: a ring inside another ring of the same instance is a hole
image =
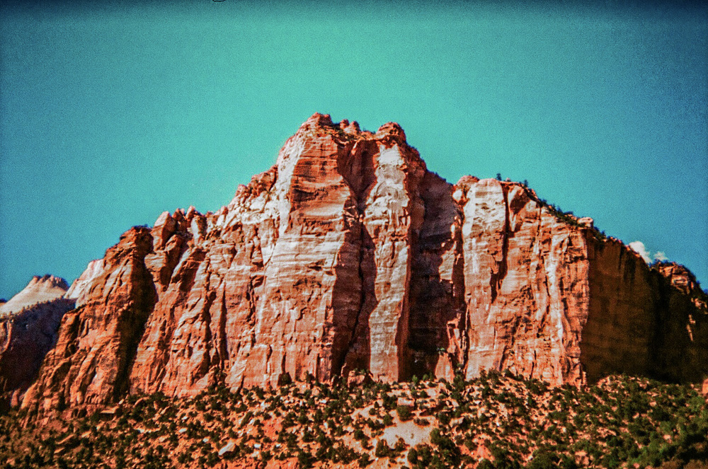
[[[690, 294], [626, 250], [617, 255], [589, 235], [588, 243], [595, 243], [595, 257], [590, 260], [590, 304], [580, 344], [587, 382], [622, 373], [669, 383], [706, 378], [706, 312]], [[616, 266], [617, 277], [607, 273], [610, 265]]]

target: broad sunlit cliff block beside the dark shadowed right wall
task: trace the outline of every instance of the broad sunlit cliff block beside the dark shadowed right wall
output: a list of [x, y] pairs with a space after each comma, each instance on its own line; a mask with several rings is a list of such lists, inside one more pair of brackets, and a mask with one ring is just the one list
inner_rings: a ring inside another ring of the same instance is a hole
[[467, 376], [510, 369], [550, 383], [582, 381], [588, 257], [583, 229], [551, 214], [525, 187], [458, 183], [467, 318]]

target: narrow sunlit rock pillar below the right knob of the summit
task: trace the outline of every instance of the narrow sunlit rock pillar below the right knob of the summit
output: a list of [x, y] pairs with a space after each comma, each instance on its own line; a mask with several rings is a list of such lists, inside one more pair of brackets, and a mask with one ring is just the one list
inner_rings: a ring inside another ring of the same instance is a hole
[[408, 376], [411, 244], [423, 224], [425, 207], [418, 186], [426, 167], [406, 145], [398, 125], [382, 126], [375, 139], [375, 180], [363, 210], [363, 230], [371, 239], [376, 266], [368, 368], [375, 378], [398, 380]]

